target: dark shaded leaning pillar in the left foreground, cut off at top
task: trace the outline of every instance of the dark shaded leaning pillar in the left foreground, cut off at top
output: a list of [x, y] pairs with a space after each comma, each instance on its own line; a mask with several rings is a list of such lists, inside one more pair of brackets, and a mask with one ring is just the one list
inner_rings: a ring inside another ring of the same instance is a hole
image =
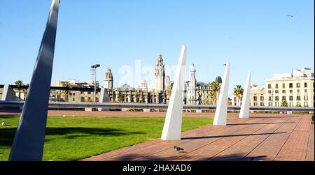
[[58, 11], [59, 0], [52, 0], [9, 161], [41, 161], [43, 159]]

